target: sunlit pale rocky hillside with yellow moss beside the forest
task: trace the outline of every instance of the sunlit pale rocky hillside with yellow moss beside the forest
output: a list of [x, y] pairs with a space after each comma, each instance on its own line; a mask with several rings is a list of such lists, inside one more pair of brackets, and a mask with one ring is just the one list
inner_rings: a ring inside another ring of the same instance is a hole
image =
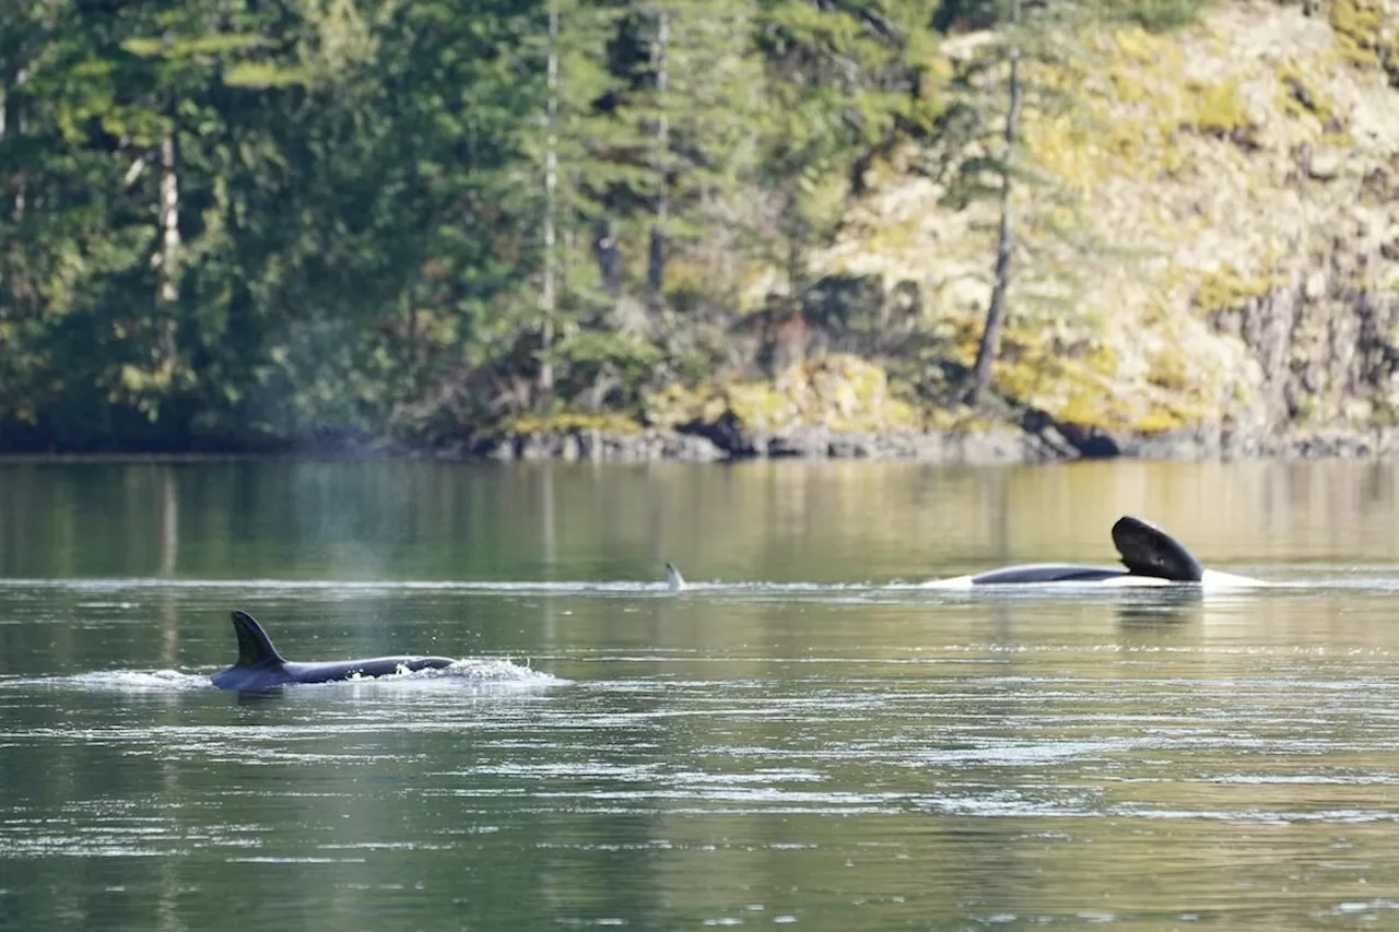
[[[1031, 235], [1069, 218], [1094, 245], [1017, 250], [997, 393], [1066, 424], [1245, 448], [1399, 424], [1399, 0], [1228, 3], [1073, 48], [1049, 77], [1074, 105], [1025, 115], [1052, 182], [1016, 206]], [[866, 330], [915, 318], [932, 334], [891, 362], [918, 381], [972, 361], [993, 206], [944, 206], [915, 157], [870, 171], [817, 270], [858, 284]]]

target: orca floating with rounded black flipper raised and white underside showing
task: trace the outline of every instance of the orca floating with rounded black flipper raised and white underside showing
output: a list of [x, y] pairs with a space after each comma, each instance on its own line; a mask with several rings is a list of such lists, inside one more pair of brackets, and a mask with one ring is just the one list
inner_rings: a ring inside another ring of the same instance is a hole
[[1121, 567], [1094, 567], [1077, 563], [1027, 563], [1000, 570], [988, 570], [971, 577], [935, 579], [925, 588], [963, 589], [970, 586], [1086, 584], [1102, 586], [1168, 586], [1168, 585], [1265, 585], [1258, 579], [1214, 572], [1181, 542], [1156, 525], [1123, 515], [1112, 525], [1112, 543], [1121, 556]]

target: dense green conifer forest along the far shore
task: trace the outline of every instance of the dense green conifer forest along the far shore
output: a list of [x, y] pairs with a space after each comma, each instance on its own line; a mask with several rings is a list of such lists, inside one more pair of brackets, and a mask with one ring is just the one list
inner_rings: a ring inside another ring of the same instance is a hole
[[[201, 451], [637, 424], [772, 378], [881, 161], [1009, 204], [1016, 69], [1058, 24], [1200, 3], [3, 7], [0, 448]], [[985, 269], [1004, 313], [1009, 249]], [[914, 330], [858, 348], [911, 402], [975, 396]]]

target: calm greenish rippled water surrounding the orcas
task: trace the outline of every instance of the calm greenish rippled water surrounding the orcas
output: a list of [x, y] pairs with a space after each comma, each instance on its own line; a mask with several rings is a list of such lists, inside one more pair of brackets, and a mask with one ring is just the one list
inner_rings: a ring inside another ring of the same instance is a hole
[[[0, 928], [1386, 928], [1396, 491], [1365, 463], [0, 466]], [[1290, 585], [914, 586], [1111, 561], [1123, 512]], [[221, 693], [231, 607], [292, 659], [462, 663]]]

